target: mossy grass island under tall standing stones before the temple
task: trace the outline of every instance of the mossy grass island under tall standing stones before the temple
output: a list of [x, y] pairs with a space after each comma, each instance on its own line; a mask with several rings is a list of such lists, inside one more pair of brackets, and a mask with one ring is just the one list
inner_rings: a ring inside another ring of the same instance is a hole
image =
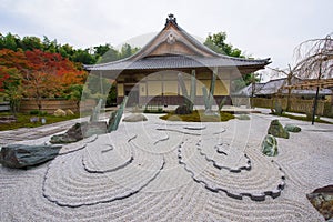
[[219, 115], [205, 115], [204, 110], [195, 110], [191, 114], [174, 114], [169, 112], [165, 115], [160, 117], [162, 120], [168, 121], [184, 121], [184, 122], [225, 122], [234, 119], [234, 115], [228, 112], [220, 112]]

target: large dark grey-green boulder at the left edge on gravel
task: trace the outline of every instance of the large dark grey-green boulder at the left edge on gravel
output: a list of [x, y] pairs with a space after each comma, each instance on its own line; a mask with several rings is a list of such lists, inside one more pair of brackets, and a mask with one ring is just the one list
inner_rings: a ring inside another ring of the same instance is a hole
[[1, 148], [0, 163], [7, 168], [26, 168], [54, 159], [61, 145], [9, 144]]

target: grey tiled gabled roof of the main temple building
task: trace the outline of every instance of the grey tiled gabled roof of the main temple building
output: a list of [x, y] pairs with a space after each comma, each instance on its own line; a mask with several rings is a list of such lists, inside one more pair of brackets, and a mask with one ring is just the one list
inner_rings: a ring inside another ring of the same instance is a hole
[[270, 63], [270, 59], [252, 60], [216, 53], [178, 26], [169, 14], [165, 26], [148, 44], [123, 60], [85, 65], [93, 71], [135, 71], [189, 68], [238, 68], [241, 73], [254, 72]]

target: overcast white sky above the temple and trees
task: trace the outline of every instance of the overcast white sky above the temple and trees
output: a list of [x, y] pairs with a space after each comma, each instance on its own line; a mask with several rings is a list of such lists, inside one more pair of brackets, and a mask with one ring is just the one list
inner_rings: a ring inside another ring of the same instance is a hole
[[332, 0], [0, 0], [0, 32], [117, 47], [159, 32], [173, 13], [189, 33], [205, 39], [225, 31], [228, 43], [283, 69], [299, 43], [333, 31], [332, 9]]

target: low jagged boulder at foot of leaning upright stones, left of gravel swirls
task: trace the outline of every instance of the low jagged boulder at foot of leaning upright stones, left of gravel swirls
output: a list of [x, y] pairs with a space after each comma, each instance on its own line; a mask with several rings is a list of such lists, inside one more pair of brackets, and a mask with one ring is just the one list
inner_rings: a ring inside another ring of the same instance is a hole
[[104, 133], [107, 133], [107, 122], [81, 122], [75, 123], [63, 134], [53, 135], [50, 142], [53, 144], [72, 143], [93, 134]]

